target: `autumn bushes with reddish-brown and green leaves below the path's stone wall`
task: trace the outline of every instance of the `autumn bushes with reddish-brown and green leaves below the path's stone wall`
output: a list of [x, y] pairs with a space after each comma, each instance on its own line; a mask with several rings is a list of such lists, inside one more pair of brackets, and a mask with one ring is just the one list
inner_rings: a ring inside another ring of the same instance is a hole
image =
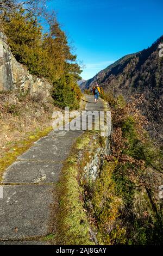
[[146, 130], [144, 96], [128, 103], [122, 95], [103, 97], [112, 115], [110, 153], [95, 184], [86, 187], [96, 238], [103, 245], [161, 245], [163, 157]]

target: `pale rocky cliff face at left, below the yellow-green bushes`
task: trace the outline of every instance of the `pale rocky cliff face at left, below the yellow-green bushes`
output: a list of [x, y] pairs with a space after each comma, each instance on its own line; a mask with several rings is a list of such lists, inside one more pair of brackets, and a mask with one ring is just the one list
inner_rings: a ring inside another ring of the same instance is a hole
[[52, 85], [45, 79], [29, 74], [26, 66], [18, 63], [10, 51], [7, 37], [0, 31], [0, 91], [21, 88], [30, 94], [50, 95]]

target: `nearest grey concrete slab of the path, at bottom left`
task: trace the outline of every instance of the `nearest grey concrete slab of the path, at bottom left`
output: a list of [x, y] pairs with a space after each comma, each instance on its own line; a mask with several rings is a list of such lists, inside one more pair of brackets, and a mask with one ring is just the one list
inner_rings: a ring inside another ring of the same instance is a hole
[[53, 185], [4, 185], [4, 198], [0, 199], [0, 238], [47, 235], [53, 190]]

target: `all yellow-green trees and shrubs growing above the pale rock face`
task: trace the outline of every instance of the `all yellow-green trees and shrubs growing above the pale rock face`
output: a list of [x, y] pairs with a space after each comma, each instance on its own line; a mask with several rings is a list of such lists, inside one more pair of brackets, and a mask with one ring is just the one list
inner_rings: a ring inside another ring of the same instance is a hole
[[31, 74], [54, 83], [55, 105], [77, 109], [82, 96], [77, 80], [82, 70], [57, 20], [53, 19], [46, 34], [36, 17], [22, 9], [5, 13], [2, 23], [16, 60], [27, 65]]

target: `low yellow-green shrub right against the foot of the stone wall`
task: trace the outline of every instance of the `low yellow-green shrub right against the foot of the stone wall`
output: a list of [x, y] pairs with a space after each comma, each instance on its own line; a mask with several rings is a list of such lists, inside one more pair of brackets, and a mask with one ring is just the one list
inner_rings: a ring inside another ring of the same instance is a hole
[[121, 194], [116, 193], [116, 182], [112, 179], [115, 168], [116, 162], [105, 162], [93, 188], [92, 216], [97, 221], [97, 239], [102, 245], [126, 243], [126, 229], [117, 223], [122, 200]]

